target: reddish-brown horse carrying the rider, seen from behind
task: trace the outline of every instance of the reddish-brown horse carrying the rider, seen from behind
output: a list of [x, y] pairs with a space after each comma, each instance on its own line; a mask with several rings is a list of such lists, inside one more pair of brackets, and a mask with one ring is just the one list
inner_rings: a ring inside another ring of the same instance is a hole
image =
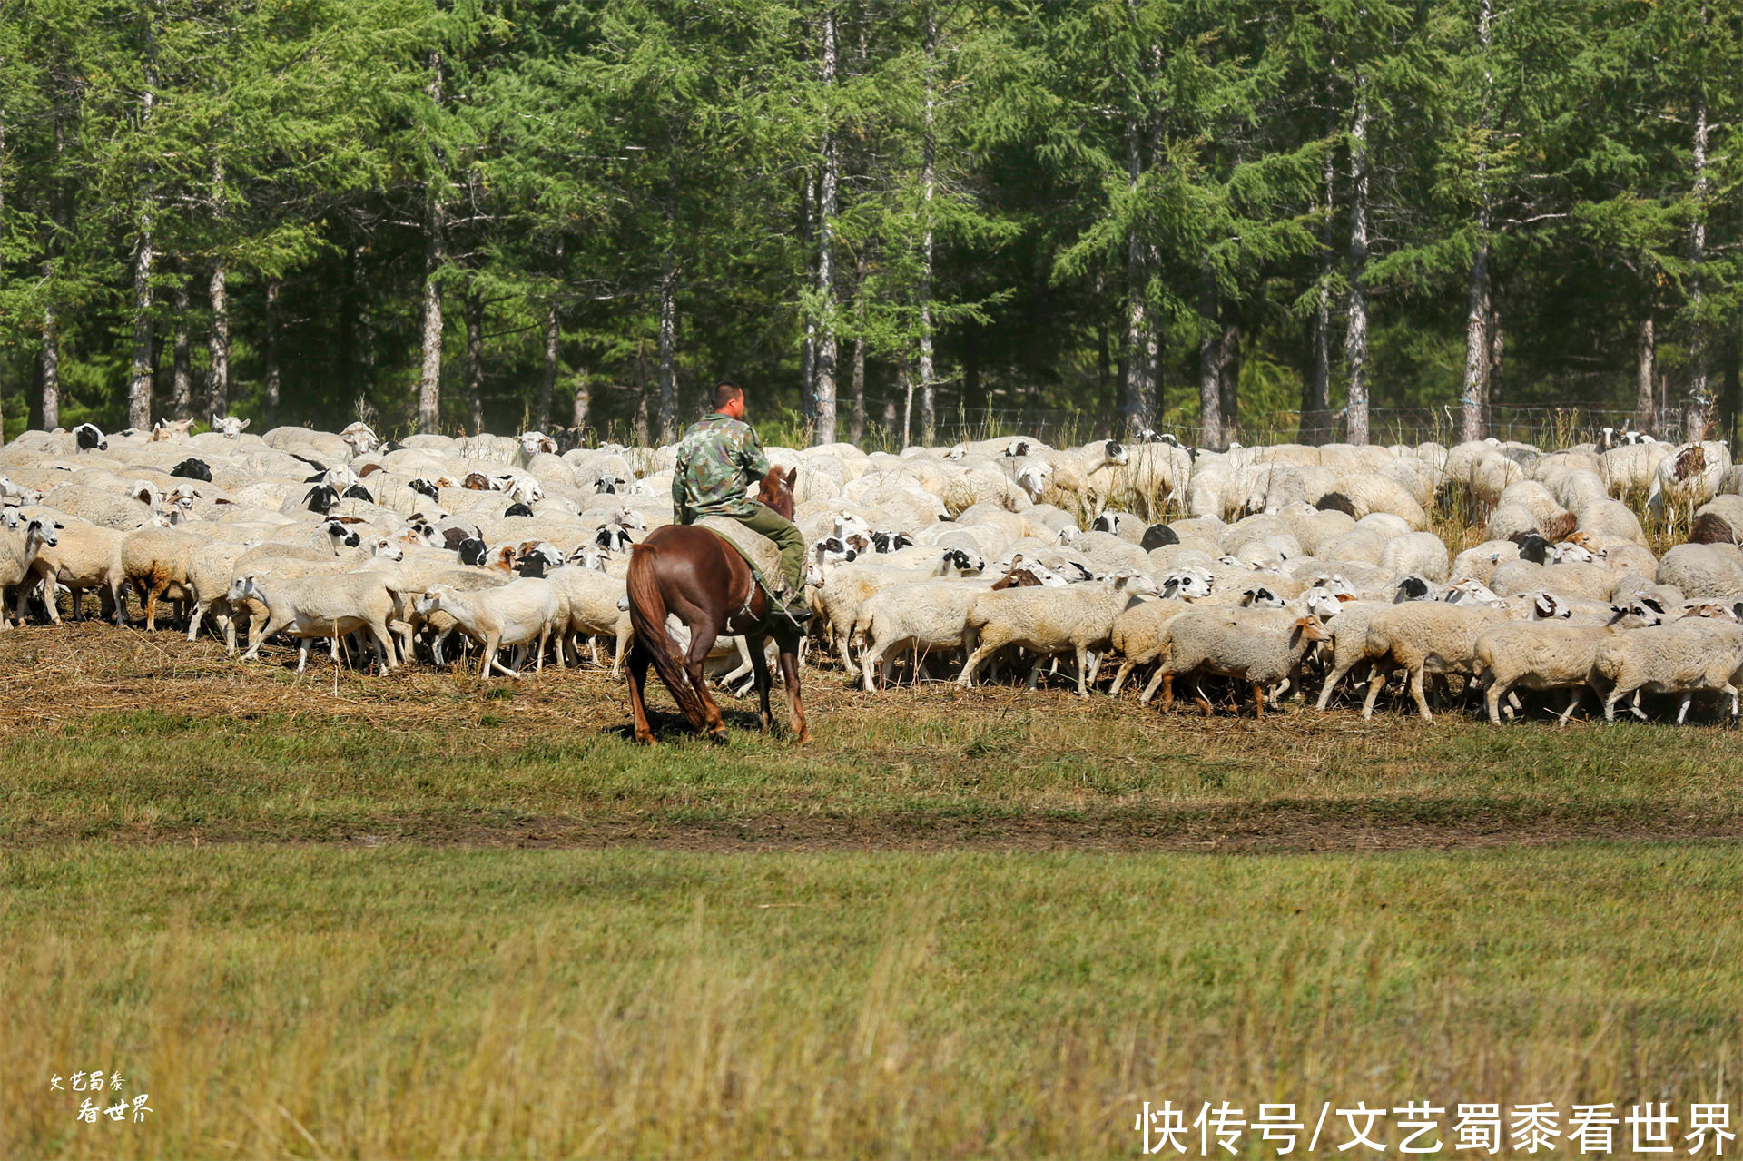
[[[793, 518], [793, 481], [798, 469], [770, 471], [756, 492], [756, 499]], [[671, 690], [678, 710], [690, 725], [706, 730], [715, 741], [727, 739], [727, 723], [720, 706], [702, 680], [702, 662], [715, 638], [722, 633], [743, 635], [751, 652], [756, 675], [756, 701], [763, 730], [770, 729], [769, 715], [769, 661], [763, 657], [763, 638], [772, 636], [781, 650], [781, 678], [786, 682], [786, 703], [793, 739], [810, 741], [805, 710], [798, 703], [798, 642], [802, 629], [791, 619], [769, 615], [769, 594], [751, 579], [749, 565], [734, 549], [720, 542], [706, 528], [664, 525], [633, 547], [629, 558], [629, 622], [636, 640], [629, 648], [629, 706], [636, 715], [636, 741], [652, 743], [645, 687], [648, 662], [659, 671]], [[690, 629], [690, 648], [680, 659], [666, 635], [666, 615], [673, 614]]]

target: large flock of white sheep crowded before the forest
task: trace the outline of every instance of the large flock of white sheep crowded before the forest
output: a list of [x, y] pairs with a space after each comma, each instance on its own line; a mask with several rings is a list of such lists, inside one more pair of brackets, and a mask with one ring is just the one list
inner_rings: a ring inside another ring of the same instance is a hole
[[[256, 436], [218, 417], [199, 434], [24, 432], [0, 450], [0, 624], [59, 622], [61, 594], [77, 617], [94, 591], [146, 629], [173, 601], [188, 640], [211, 626], [232, 654], [246, 626], [244, 659], [286, 635], [298, 671], [317, 642], [383, 669], [476, 643], [479, 676], [519, 676], [547, 654], [601, 664], [600, 638], [615, 671], [629, 546], [673, 518], [673, 448], [563, 443]], [[927, 675], [1034, 687], [1068, 664], [1081, 696], [1103, 668], [1110, 694], [1142, 669], [1140, 701], [1161, 690], [1166, 708], [1178, 682], [1206, 713], [1232, 692], [1264, 716], [1311, 682], [1323, 710], [1353, 682], [1367, 716], [1401, 673], [1424, 718], [1447, 676], [1495, 722], [1565, 722], [1586, 690], [1607, 718], [1647, 716], [1642, 694], [1675, 696], [1679, 722], [1698, 694], [1738, 715], [1743, 488], [1722, 443], [1605, 429], [1562, 452], [1201, 452], [1145, 432], [769, 457], [798, 467], [812, 636], [868, 692]], [[1684, 542], [1656, 556], [1630, 500]], [[1469, 514], [1482, 542], [1448, 553], [1436, 511]], [[723, 638], [711, 675], [749, 673]]]

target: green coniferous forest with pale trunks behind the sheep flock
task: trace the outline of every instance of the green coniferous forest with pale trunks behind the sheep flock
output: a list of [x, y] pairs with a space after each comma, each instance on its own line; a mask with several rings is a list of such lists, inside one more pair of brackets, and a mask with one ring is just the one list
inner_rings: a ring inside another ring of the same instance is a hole
[[0, 406], [1733, 436], [1743, 5], [0, 0]]

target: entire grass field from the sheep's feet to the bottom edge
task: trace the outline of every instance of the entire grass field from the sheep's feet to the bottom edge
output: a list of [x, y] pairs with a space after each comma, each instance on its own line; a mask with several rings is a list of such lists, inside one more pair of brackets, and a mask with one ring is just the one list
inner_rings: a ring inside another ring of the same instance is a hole
[[[7, 1158], [1117, 1156], [1143, 1100], [1565, 1116], [1743, 1063], [1722, 729], [823, 673], [805, 751], [648, 751], [596, 673], [66, 628], [0, 675]], [[98, 1065], [145, 1124], [47, 1088]]]

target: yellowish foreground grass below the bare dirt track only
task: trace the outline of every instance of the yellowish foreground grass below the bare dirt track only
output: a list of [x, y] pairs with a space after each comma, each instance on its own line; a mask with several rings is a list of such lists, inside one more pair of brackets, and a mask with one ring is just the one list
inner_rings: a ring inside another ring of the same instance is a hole
[[[1720, 1100], [1740, 887], [1729, 844], [33, 852], [0, 1154], [1075, 1158], [1143, 1100]], [[47, 1079], [92, 1065], [155, 1116], [77, 1124]]]

